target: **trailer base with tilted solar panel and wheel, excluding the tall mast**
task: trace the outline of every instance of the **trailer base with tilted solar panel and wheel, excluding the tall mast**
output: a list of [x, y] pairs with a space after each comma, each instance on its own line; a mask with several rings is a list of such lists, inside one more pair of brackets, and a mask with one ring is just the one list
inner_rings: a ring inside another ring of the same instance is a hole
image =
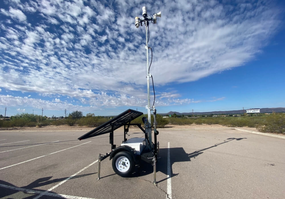
[[[83, 140], [109, 133], [111, 151], [105, 155], [99, 154], [98, 180], [100, 179], [100, 162], [107, 157], [109, 157], [109, 160], [113, 159], [113, 170], [122, 177], [130, 176], [135, 169], [136, 162], [140, 159], [148, 163], [152, 163], [155, 169], [155, 163], [158, 158], [157, 144], [149, 142], [148, 135], [145, 129], [141, 127], [141, 123], [131, 123], [132, 120], [141, 115], [143, 115], [142, 112], [128, 109], [117, 117], [114, 117], [108, 122], [78, 138], [79, 140]], [[143, 117], [143, 121], [144, 120], [145, 118]], [[144, 138], [127, 139], [126, 134], [129, 132], [130, 125], [137, 125], [144, 132]], [[124, 126], [124, 140], [121, 146], [116, 146], [114, 144], [114, 130], [122, 126]], [[157, 130], [155, 132], [154, 140], [156, 140], [156, 135], [158, 134]]]

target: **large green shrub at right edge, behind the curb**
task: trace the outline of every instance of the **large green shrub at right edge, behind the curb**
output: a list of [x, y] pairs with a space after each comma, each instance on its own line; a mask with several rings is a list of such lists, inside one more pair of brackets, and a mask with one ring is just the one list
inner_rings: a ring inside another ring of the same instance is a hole
[[285, 134], [285, 114], [279, 113], [267, 116], [266, 121], [259, 124], [257, 129], [261, 132]]

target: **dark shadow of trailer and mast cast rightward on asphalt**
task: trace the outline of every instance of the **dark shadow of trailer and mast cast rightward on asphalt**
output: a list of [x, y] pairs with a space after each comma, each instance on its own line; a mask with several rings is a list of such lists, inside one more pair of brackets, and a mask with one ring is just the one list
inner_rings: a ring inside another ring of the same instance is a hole
[[[170, 148], [170, 169], [171, 169], [171, 177], [177, 176], [179, 173], [173, 173], [172, 172], [172, 165], [176, 162], [187, 162], [191, 161], [191, 158], [195, 158], [201, 154], [203, 154], [203, 151], [208, 150], [213, 147], [217, 147], [221, 144], [225, 144], [227, 142], [233, 141], [233, 140], [242, 140], [242, 139], [247, 139], [247, 138], [227, 138], [223, 142], [214, 144], [213, 146], [209, 146], [207, 148], [203, 148], [200, 150], [196, 150], [192, 153], [186, 153], [184, 148], [182, 147], [174, 147]], [[168, 148], [160, 148], [159, 151], [160, 154], [160, 159], [157, 160], [156, 164], [156, 172], [161, 172], [164, 173], [165, 175], [168, 175], [167, 171], [167, 161], [168, 161]], [[151, 164], [148, 164], [144, 161], [141, 161], [139, 163], [140, 166], [137, 165], [135, 172], [133, 173], [133, 177], [138, 177], [138, 176], [144, 176], [144, 175], [149, 175], [150, 173], [153, 173], [153, 166]], [[158, 183], [167, 180], [167, 177], [165, 179], [160, 180]]]

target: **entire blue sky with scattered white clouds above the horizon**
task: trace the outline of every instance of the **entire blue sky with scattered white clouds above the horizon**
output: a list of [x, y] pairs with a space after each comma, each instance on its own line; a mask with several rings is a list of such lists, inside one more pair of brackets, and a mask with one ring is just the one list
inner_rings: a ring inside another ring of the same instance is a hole
[[3, 0], [0, 114], [146, 113], [143, 6], [158, 113], [285, 107], [283, 1]]

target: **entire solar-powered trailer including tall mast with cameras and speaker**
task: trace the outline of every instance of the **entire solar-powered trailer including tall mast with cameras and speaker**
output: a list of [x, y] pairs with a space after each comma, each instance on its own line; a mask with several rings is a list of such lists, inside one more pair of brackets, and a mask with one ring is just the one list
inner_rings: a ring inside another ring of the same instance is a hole
[[[156, 136], [158, 135], [158, 130], [156, 130], [156, 109], [153, 105], [150, 105], [150, 78], [152, 75], [149, 73], [151, 66], [148, 65], [148, 32], [149, 32], [149, 23], [156, 24], [156, 17], [161, 17], [161, 13], [156, 13], [153, 17], [150, 17], [147, 13], [146, 7], [143, 7], [143, 18], [135, 17], [135, 25], [137, 28], [139, 26], [145, 25], [146, 28], [146, 80], [147, 80], [147, 96], [148, 96], [148, 105], [146, 105], [148, 117], [143, 117], [144, 128], [141, 127], [141, 124], [131, 124], [131, 121], [143, 115], [142, 112], [128, 109], [127, 111], [121, 113], [117, 117], [114, 117], [110, 121], [100, 125], [99, 127], [89, 131], [85, 135], [78, 138], [83, 140], [86, 138], [91, 138], [94, 136], [110, 133], [110, 144], [111, 152], [106, 153], [106, 155], [99, 154], [98, 159], [98, 179], [100, 179], [100, 165], [101, 161], [110, 157], [112, 160], [112, 167], [115, 173], [122, 177], [128, 177], [131, 175], [135, 168], [135, 162], [139, 159], [151, 163], [153, 165], [153, 185], [156, 185], [156, 162], [159, 154], [159, 142], [157, 142]], [[152, 53], [151, 53], [152, 55]], [[152, 59], [151, 59], [152, 60]], [[153, 80], [152, 80], [153, 84]], [[154, 87], [153, 87], [154, 89]], [[154, 90], [153, 90], [154, 92]], [[155, 99], [155, 93], [154, 93]], [[153, 123], [151, 122], [151, 111], [153, 112]], [[129, 132], [130, 125], [137, 125], [145, 134], [144, 138], [131, 138], [127, 140], [126, 134]], [[114, 144], [114, 130], [124, 126], [124, 140], [121, 146], [116, 147]], [[152, 142], [152, 128], [154, 131], [154, 143]]]

